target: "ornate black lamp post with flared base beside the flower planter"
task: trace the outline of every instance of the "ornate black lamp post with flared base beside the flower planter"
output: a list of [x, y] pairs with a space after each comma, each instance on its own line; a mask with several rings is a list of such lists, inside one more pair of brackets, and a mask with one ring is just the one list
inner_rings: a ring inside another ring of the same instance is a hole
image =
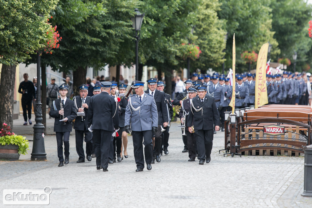
[[42, 124], [42, 108], [41, 108], [41, 71], [40, 71], [40, 52], [37, 52], [37, 97], [36, 97], [36, 124], [32, 127], [34, 129], [33, 145], [31, 160], [45, 160], [46, 150], [44, 146], [44, 126]]

